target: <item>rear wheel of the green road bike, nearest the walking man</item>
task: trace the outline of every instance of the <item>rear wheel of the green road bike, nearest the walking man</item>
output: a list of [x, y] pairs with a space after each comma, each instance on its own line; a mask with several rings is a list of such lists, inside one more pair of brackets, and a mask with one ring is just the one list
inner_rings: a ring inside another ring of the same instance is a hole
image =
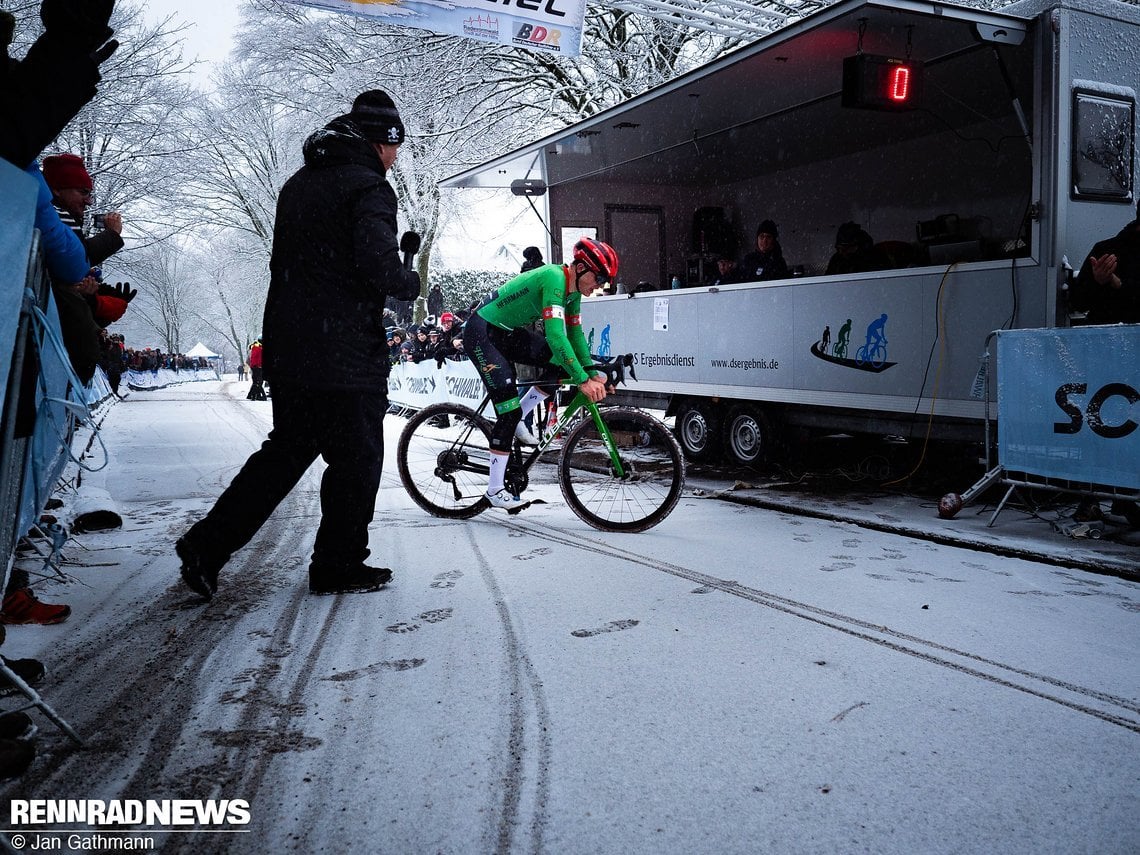
[[490, 422], [458, 404], [433, 404], [412, 416], [396, 449], [412, 500], [451, 520], [486, 510], [490, 438]]

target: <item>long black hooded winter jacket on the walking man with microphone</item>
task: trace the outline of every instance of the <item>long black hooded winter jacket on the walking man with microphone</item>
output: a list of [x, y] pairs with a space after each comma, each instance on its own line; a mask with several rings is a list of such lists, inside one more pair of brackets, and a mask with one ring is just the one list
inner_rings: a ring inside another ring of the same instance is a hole
[[262, 327], [272, 384], [386, 392], [384, 298], [409, 300], [396, 192], [375, 149], [344, 116], [304, 142], [304, 165], [277, 199]]

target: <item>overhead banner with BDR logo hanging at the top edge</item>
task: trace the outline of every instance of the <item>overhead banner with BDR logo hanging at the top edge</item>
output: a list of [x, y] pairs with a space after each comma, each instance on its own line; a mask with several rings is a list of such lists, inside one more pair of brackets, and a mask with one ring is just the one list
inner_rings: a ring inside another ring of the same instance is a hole
[[290, 0], [394, 26], [578, 56], [586, 0]]

